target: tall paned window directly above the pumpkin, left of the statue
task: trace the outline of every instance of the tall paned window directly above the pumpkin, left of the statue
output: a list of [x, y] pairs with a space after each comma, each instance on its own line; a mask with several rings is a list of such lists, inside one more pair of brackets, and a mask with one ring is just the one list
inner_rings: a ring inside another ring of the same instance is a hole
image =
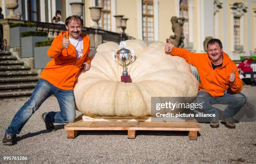
[[148, 43], [154, 41], [154, 2], [153, 0], [142, 1], [142, 25], [143, 40]]

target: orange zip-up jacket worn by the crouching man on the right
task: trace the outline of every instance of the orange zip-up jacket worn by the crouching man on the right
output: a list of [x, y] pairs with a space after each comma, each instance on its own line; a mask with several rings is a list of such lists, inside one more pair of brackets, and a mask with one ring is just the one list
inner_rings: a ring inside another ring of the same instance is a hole
[[[197, 68], [200, 76], [199, 90], [204, 89], [213, 97], [224, 96], [224, 92], [228, 89], [234, 93], [241, 92], [243, 84], [238, 68], [228, 54], [223, 52], [222, 66], [214, 70], [207, 53], [193, 53], [183, 48], [173, 47], [171, 54], [184, 58], [187, 63]], [[236, 78], [233, 83], [230, 83], [229, 76], [234, 70], [236, 70]]]

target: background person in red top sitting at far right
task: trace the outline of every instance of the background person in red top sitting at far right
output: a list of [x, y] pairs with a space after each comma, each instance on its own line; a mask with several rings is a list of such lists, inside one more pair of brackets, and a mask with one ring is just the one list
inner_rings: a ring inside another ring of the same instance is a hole
[[251, 86], [256, 86], [256, 81], [254, 79], [254, 72], [253, 69], [251, 68], [251, 62], [253, 61], [252, 58], [250, 57], [245, 57], [243, 58], [243, 61], [239, 64], [237, 67], [239, 72], [243, 74], [245, 77], [246, 74], [251, 75]]

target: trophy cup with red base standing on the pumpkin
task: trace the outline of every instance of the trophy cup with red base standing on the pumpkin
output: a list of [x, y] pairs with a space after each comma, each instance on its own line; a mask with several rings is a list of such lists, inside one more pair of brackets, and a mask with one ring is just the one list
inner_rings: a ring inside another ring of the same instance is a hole
[[121, 49], [117, 52], [112, 52], [112, 56], [114, 60], [123, 67], [123, 76], [121, 76], [121, 82], [131, 83], [131, 77], [127, 72], [127, 66], [133, 63], [136, 60], [136, 56], [134, 56], [134, 50], [126, 49], [125, 41], [120, 42]]

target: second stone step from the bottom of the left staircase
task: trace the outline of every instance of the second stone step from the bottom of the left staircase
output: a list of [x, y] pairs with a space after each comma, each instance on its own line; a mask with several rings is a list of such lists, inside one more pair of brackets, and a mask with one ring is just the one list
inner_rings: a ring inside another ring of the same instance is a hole
[[17, 91], [17, 90], [24, 90], [24, 89], [33, 89], [36, 87], [36, 82], [29, 83], [29, 84], [7, 84], [7, 85], [0, 85], [0, 92], [11, 92], [11, 91]]

